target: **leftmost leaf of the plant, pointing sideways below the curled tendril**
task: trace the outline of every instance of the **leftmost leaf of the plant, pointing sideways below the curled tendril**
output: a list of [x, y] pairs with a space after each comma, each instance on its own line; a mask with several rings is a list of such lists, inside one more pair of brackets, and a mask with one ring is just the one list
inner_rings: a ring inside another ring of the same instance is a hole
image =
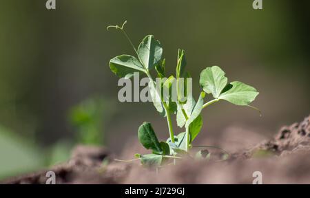
[[145, 72], [137, 58], [130, 55], [116, 56], [110, 60], [110, 69], [116, 76], [130, 78], [134, 72]]

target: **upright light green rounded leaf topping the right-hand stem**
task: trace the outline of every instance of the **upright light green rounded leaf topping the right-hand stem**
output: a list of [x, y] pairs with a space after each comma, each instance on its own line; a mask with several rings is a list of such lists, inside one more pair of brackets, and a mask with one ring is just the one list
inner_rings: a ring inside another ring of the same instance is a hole
[[218, 98], [227, 84], [227, 78], [220, 67], [207, 67], [201, 72], [199, 83], [203, 87], [203, 91], [212, 94], [214, 98]]

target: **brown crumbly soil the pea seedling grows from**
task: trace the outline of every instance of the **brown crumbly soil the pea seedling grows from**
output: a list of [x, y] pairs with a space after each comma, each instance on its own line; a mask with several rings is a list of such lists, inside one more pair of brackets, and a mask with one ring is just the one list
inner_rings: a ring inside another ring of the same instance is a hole
[[[56, 184], [252, 184], [256, 171], [262, 173], [263, 184], [309, 184], [310, 116], [283, 126], [271, 140], [264, 138], [245, 129], [227, 129], [220, 140], [221, 148], [230, 153], [227, 160], [221, 158], [223, 151], [207, 148], [209, 161], [184, 159], [158, 173], [138, 162], [115, 162], [105, 148], [76, 146], [68, 162], [0, 183], [45, 184], [45, 174], [52, 170]], [[130, 149], [136, 148], [125, 149], [123, 156], [128, 156]], [[107, 160], [110, 163], [104, 165]]]

